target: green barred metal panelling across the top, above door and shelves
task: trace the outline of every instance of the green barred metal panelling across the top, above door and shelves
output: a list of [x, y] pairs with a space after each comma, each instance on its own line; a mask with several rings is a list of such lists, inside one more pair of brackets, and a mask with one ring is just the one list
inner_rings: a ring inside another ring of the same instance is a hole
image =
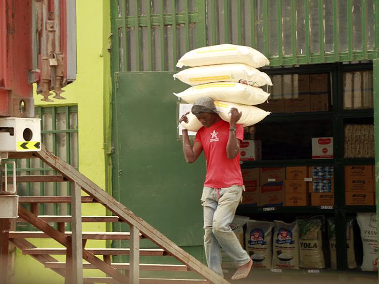
[[248, 45], [270, 66], [374, 59], [378, 0], [112, 1], [114, 71], [176, 70], [205, 45]]

